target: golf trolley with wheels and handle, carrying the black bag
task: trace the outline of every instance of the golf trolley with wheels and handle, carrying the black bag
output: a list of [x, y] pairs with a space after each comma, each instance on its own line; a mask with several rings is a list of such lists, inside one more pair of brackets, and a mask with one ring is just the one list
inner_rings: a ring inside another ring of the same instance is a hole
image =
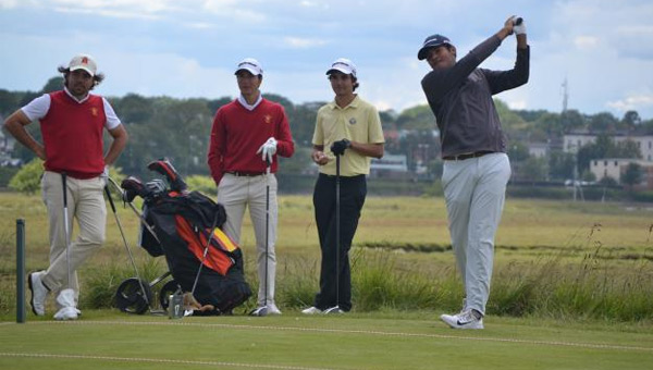
[[[109, 182], [140, 221], [139, 245], [152, 257], [164, 256], [169, 271], [151, 282], [140, 276], [107, 188], [136, 273], [136, 278], [119, 285], [115, 306], [128, 313], [141, 314], [148, 309], [151, 313], [164, 313], [171, 295], [185, 293], [185, 299], [188, 296], [188, 300], [201, 307], [192, 310], [193, 314], [231, 312], [249, 298], [251, 291], [244, 279], [241, 249], [221, 231], [226, 220], [224, 208], [199, 192], [188, 192], [167, 159], [149, 163], [148, 169], [164, 175], [170, 188], [162, 180], [143, 184], [133, 176], [120, 186], [111, 178]], [[132, 202], [137, 196], [144, 199], [143, 212]], [[161, 283], [158, 295], [162, 310], [156, 310], [152, 292]]]

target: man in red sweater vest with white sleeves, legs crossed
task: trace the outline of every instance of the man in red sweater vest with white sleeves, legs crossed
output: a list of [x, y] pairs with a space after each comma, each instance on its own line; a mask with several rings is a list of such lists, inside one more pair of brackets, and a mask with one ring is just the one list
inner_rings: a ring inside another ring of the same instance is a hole
[[[74, 57], [67, 67], [60, 66], [63, 90], [44, 94], [10, 115], [4, 127], [16, 140], [42, 159], [42, 197], [50, 223], [50, 266], [27, 278], [32, 291], [32, 310], [46, 313], [48, 293], [54, 293], [57, 320], [75, 320], [79, 296], [76, 270], [104, 242], [107, 208], [103, 188], [111, 165], [126, 145], [127, 133], [107, 99], [89, 91], [104, 76], [97, 73], [95, 60], [87, 54]], [[38, 120], [42, 144], [24, 126]], [[102, 148], [102, 133], [113, 138], [109, 150]], [[63, 207], [63, 174], [67, 198], [67, 220]], [[71, 243], [72, 219], [79, 232]], [[69, 235], [71, 237], [71, 235]], [[70, 243], [70, 246], [69, 246]], [[66, 251], [67, 248], [67, 251]]]

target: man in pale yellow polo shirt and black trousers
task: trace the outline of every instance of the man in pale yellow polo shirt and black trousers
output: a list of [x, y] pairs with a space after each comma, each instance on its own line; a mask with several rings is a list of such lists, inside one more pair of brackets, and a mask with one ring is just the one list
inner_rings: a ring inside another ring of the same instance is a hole
[[[356, 65], [337, 59], [326, 71], [334, 101], [318, 111], [312, 160], [320, 166], [313, 192], [322, 262], [320, 292], [303, 313], [352, 309], [349, 249], [367, 195], [366, 175], [373, 158], [383, 157], [383, 130], [377, 109], [354, 91]], [[326, 150], [325, 150], [326, 148]], [[336, 159], [340, 156], [340, 247], [336, 244]], [[336, 261], [337, 258], [337, 261]], [[337, 271], [336, 271], [337, 268]]]

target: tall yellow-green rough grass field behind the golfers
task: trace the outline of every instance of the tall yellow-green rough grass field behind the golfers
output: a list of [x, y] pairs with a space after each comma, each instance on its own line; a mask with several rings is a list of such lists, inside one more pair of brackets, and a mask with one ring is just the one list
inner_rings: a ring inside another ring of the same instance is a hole
[[[27, 269], [48, 263], [47, 221], [37, 196], [0, 194], [0, 314], [13, 313], [14, 220], [27, 221]], [[119, 215], [144, 276], [165, 271], [162, 258], [136, 247], [138, 220]], [[509, 199], [497, 235], [488, 313], [556, 320], [653, 321], [650, 211], [620, 205]], [[309, 196], [280, 199], [278, 301], [312, 304], [319, 247]], [[106, 246], [81, 271], [83, 308], [110, 307], [116, 286], [134, 272], [113, 215]], [[256, 292], [254, 234], [246, 219], [242, 247]], [[441, 198], [370, 197], [352, 251], [356, 312], [456, 311], [463, 299]], [[156, 291], [155, 291], [156, 292]], [[243, 312], [254, 306], [248, 301]], [[237, 313], [241, 311], [237, 310]]]

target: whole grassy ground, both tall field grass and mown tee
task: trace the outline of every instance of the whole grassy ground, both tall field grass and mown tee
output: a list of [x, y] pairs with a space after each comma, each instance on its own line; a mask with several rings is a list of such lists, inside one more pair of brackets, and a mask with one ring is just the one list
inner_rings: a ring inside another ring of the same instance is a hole
[[[282, 317], [127, 316], [104, 307], [131, 268], [115, 226], [81, 272], [83, 318], [15, 322], [14, 227], [27, 224], [27, 269], [47, 267], [38, 196], [0, 194], [0, 369], [650, 369], [653, 363], [653, 211], [642, 205], [508, 199], [496, 239], [485, 330], [447, 329], [460, 286], [441, 198], [369, 197], [355, 238], [354, 311], [304, 317], [319, 258], [308, 196], [280, 198]], [[137, 219], [119, 215], [137, 263]], [[254, 234], [242, 246], [256, 287]], [[115, 272], [118, 271], [118, 272]], [[104, 292], [106, 291], [106, 292]], [[99, 293], [98, 293], [99, 292]], [[98, 307], [98, 308], [93, 308]], [[49, 312], [53, 307], [49, 306]]]

